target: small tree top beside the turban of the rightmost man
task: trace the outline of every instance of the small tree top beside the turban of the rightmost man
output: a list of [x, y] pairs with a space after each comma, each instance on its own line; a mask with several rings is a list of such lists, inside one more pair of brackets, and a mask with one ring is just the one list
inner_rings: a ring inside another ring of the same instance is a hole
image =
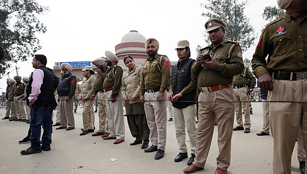
[[281, 9], [277, 6], [266, 6], [264, 7], [264, 12], [262, 13], [262, 17], [267, 21], [274, 21], [281, 17], [284, 17], [285, 10]]

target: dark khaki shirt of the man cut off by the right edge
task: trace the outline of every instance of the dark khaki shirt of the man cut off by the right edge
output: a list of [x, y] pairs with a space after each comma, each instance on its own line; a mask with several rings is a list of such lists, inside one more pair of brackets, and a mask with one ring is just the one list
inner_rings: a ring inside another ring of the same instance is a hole
[[[284, 27], [281, 33], [277, 30]], [[307, 13], [302, 21], [288, 13], [263, 29], [252, 59], [253, 73], [259, 78], [275, 71], [307, 71]], [[268, 57], [268, 64], [266, 57]]]

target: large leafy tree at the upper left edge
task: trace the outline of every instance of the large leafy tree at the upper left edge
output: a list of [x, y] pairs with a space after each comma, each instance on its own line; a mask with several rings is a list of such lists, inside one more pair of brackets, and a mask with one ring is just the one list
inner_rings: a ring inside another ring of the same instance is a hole
[[46, 27], [38, 15], [49, 11], [35, 0], [0, 0], [0, 45], [4, 59], [0, 61], [0, 74], [18, 60], [26, 61], [41, 46], [37, 33], [45, 33]]

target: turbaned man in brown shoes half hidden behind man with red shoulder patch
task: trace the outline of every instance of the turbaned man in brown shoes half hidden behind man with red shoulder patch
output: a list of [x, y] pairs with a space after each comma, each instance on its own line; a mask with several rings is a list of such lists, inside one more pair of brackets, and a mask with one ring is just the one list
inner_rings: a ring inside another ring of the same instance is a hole
[[99, 117], [99, 130], [92, 134], [92, 136], [107, 137], [110, 133], [106, 132], [106, 122], [107, 122], [107, 112], [106, 112], [106, 96], [105, 92], [103, 92], [103, 82], [105, 80], [106, 72], [107, 72], [107, 64], [105, 57], [100, 57], [92, 61], [92, 64], [96, 66], [96, 72], [98, 76], [96, 77], [95, 91], [91, 96], [91, 99], [94, 99], [97, 95], [97, 104], [98, 104], [98, 117]]

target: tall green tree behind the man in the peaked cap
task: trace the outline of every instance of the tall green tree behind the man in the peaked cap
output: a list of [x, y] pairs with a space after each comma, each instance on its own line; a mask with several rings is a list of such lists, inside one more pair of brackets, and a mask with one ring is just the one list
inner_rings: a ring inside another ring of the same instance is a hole
[[[239, 3], [238, 0], [206, 0], [200, 4], [207, 10], [202, 16], [219, 18], [226, 23], [225, 40], [239, 42], [242, 51], [249, 49], [255, 40], [255, 30], [244, 14], [246, 4], [247, 1]], [[204, 36], [209, 43], [207, 32]]]

